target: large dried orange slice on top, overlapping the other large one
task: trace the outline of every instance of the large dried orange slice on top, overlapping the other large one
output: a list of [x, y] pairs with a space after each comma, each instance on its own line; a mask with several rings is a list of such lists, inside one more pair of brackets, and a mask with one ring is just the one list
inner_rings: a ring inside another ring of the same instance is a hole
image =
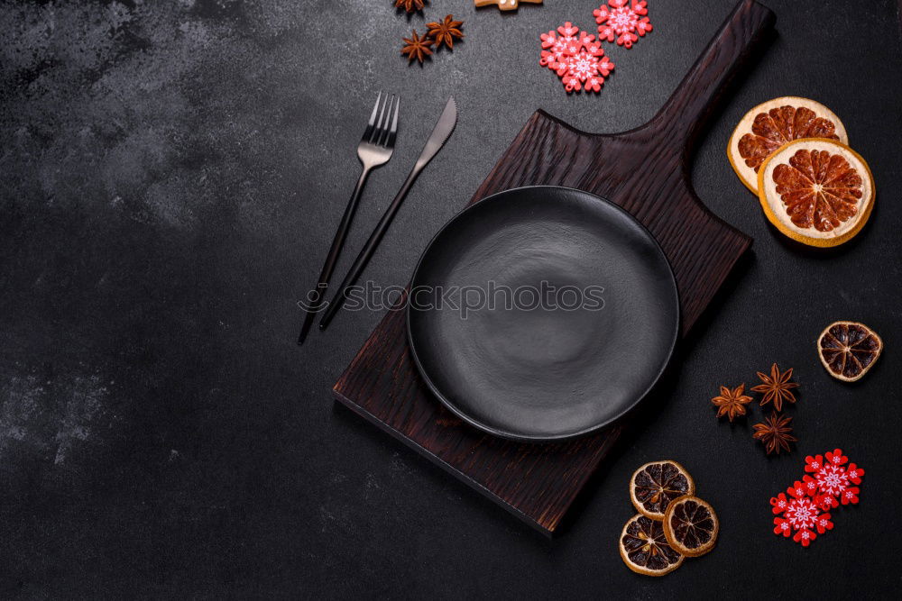
[[809, 246], [837, 246], [861, 231], [874, 205], [868, 163], [845, 144], [806, 138], [784, 144], [758, 172], [770, 223]]

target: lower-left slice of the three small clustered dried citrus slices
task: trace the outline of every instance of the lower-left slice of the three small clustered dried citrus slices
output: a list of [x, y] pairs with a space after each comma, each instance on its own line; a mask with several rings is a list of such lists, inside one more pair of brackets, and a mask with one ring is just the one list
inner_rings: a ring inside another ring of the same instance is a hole
[[664, 526], [646, 515], [636, 514], [623, 526], [618, 546], [623, 563], [646, 576], [664, 576], [683, 563], [683, 556], [667, 543]]

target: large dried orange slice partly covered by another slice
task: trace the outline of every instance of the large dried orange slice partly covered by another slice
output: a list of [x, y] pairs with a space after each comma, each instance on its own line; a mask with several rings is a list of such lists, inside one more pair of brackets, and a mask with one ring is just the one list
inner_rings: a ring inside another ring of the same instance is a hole
[[755, 194], [764, 161], [787, 141], [829, 138], [849, 143], [845, 126], [829, 108], [798, 96], [781, 96], [746, 113], [727, 143], [733, 171]]

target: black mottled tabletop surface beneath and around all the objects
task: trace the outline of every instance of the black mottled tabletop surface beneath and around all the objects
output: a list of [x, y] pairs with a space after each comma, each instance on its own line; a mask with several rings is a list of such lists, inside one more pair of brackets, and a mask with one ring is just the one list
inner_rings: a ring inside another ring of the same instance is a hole
[[[590, 0], [519, 14], [433, 0], [0, 4], [0, 595], [851, 596], [898, 587], [897, 295], [902, 60], [897, 4], [771, 0], [778, 37], [713, 114], [692, 178], [755, 238], [677, 357], [666, 405], [625, 437], [563, 535], [543, 540], [329, 389], [380, 318], [340, 314], [294, 345], [357, 177], [376, 91], [402, 96], [399, 145], [364, 192], [343, 274], [449, 94], [457, 130], [401, 209], [366, 277], [403, 284], [529, 114], [617, 132], [664, 102], [732, 8], [651, 0], [654, 32], [609, 45], [598, 96], [538, 67], [538, 34], [593, 24]], [[466, 39], [423, 68], [400, 36], [453, 13]], [[833, 251], [790, 245], [724, 155], [773, 96], [842, 116], [879, 188], [870, 223]], [[887, 343], [857, 385], [830, 378], [827, 323]], [[758, 421], [718, 423], [720, 384], [796, 368], [800, 439], [768, 459]], [[841, 446], [861, 505], [804, 550], [770, 533], [768, 499], [806, 454]], [[640, 463], [691, 470], [718, 547], [665, 579], [616, 551]]]

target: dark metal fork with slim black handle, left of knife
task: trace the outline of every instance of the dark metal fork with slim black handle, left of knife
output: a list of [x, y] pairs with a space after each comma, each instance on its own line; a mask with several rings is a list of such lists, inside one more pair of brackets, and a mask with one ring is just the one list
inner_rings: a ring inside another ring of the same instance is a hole
[[360, 179], [357, 180], [357, 186], [354, 187], [354, 194], [351, 195], [351, 200], [347, 203], [341, 223], [338, 224], [338, 231], [332, 240], [332, 248], [329, 249], [329, 254], [326, 256], [323, 270], [319, 274], [317, 287], [313, 288], [307, 296], [307, 315], [304, 317], [304, 324], [300, 328], [299, 345], [304, 343], [316, 314], [322, 308], [324, 293], [329, 286], [332, 272], [335, 270], [338, 255], [345, 245], [345, 238], [347, 238], [347, 232], [351, 228], [354, 213], [357, 211], [357, 201], [360, 200], [360, 194], [364, 189], [366, 178], [370, 176], [370, 171], [384, 165], [391, 159], [395, 138], [398, 135], [400, 96], [393, 94], [391, 98], [388, 94], [385, 94], [384, 98], [382, 96], [382, 92], [379, 93], [379, 96], [376, 96], [376, 104], [373, 105], [373, 113], [370, 114], [370, 121], [366, 124], [364, 137], [361, 138], [360, 143], [357, 145], [357, 158], [363, 163], [364, 170], [360, 174]]

